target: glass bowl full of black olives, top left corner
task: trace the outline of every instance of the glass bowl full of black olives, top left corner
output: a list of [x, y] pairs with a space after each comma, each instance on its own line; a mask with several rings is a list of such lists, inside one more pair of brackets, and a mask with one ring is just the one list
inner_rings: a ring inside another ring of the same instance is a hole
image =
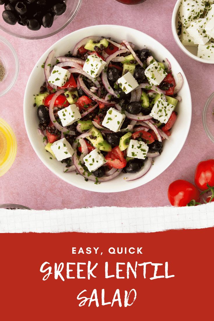
[[82, 0], [0, 0], [0, 29], [23, 39], [43, 39], [63, 30]]

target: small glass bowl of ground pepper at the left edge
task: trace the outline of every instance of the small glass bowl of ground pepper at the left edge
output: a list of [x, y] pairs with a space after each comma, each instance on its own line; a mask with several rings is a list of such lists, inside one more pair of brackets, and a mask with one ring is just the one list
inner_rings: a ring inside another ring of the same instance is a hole
[[18, 56], [10, 42], [0, 36], [0, 97], [13, 87], [18, 74]]

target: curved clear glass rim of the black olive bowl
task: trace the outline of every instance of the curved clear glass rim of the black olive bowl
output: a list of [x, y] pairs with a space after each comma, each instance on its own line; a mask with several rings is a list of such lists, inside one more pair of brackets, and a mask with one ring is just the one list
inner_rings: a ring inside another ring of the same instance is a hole
[[[69, 1], [69, 0], [68, 0]], [[75, 16], [77, 15], [78, 11], [80, 10], [80, 7], [81, 7], [81, 4], [82, 4], [82, 0], [78, 0], [78, 5], [77, 7], [75, 8], [75, 11], [73, 12], [73, 15], [70, 17], [70, 19], [62, 26], [60, 27], [59, 29], [47, 34], [47, 35], [43, 35], [43, 36], [25, 36], [25, 35], [20, 35], [16, 32], [13, 32], [13, 31], [10, 31], [10, 30], [7, 30], [6, 28], [4, 28], [3, 26], [0, 25], [0, 29], [3, 30], [4, 32], [14, 36], [14, 37], [17, 37], [17, 38], [21, 38], [21, 39], [30, 39], [30, 40], [37, 40], [37, 39], [44, 39], [44, 38], [48, 38], [48, 37], [51, 37], [51, 36], [54, 36], [56, 35], [56, 33], [62, 31], [65, 27], [67, 27], [69, 25], [69, 23], [72, 22], [72, 20], [75, 18]], [[59, 16], [60, 17], [60, 16]], [[48, 29], [48, 28], [46, 28]]]

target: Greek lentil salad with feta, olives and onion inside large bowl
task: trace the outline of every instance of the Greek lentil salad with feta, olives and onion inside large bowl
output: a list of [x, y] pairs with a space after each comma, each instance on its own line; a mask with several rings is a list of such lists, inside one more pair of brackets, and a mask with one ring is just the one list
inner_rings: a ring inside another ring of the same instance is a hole
[[90, 36], [52, 65], [54, 57], [34, 104], [50, 159], [96, 184], [145, 175], [171, 135], [182, 75], [175, 83], [167, 58], [126, 40]]

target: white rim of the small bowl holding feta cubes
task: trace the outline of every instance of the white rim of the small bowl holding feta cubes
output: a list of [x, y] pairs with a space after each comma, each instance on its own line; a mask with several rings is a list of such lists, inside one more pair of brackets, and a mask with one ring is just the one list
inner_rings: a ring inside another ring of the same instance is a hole
[[191, 52], [189, 52], [184, 45], [181, 43], [177, 31], [176, 31], [176, 25], [175, 25], [175, 21], [176, 21], [176, 16], [177, 16], [177, 11], [179, 8], [179, 5], [181, 3], [182, 0], [177, 0], [175, 7], [173, 9], [173, 13], [172, 13], [172, 20], [171, 20], [171, 27], [172, 27], [172, 34], [173, 37], [175, 39], [175, 42], [177, 43], [178, 47], [189, 57], [193, 58], [194, 60], [197, 60], [199, 62], [205, 63], [205, 64], [214, 64], [214, 61], [212, 60], [207, 60], [207, 59], [203, 59], [200, 57], [197, 57], [195, 55], [193, 55]]

